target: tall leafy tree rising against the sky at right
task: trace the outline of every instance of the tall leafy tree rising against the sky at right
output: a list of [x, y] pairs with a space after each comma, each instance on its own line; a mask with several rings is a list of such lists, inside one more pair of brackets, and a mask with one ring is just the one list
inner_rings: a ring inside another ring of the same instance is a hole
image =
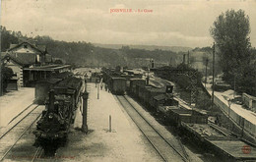
[[242, 76], [250, 63], [250, 25], [244, 11], [227, 10], [222, 13], [210, 28], [220, 52], [220, 65], [225, 81], [233, 81]]

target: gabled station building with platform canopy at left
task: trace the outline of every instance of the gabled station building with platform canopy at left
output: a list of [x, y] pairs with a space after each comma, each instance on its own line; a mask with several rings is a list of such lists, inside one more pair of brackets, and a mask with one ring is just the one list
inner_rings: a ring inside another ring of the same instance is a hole
[[[13, 78], [8, 81], [15, 86], [33, 86], [36, 81], [47, 79], [53, 73], [70, 71], [70, 65], [53, 64], [52, 56], [45, 45], [34, 45], [28, 41], [11, 44], [6, 52], [1, 53], [4, 66], [13, 70]], [[16, 85], [15, 85], [16, 84]]]

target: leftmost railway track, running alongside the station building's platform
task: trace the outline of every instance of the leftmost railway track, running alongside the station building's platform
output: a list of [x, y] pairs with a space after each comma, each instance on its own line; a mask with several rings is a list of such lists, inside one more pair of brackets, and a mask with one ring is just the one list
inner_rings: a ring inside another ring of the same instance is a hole
[[[26, 135], [32, 125], [38, 120], [44, 106], [34, 105], [27, 109], [28, 114], [24, 115], [11, 128], [9, 128], [0, 138], [0, 161], [3, 161], [9, 154], [12, 154], [12, 149], [17, 145], [18, 141]], [[13, 153], [14, 154], [14, 153]]]

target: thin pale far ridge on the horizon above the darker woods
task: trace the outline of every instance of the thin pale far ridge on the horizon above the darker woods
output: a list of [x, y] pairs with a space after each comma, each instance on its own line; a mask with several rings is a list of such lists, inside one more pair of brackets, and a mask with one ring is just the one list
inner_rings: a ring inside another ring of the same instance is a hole
[[159, 45], [129, 45], [129, 44], [100, 44], [100, 43], [93, 43], [97, 47], [102, 48], [111, 48], [111, 49], [120, 49], [122, 46], [129, 46], [130, 48], [136, 49], [145, 49], [154, 51], [155, 49], [160, 50], [167, 50], [172, 52], [187, 52], [188, 50], [192, 50], [190, 47], [183, 47], [183, 46], [159, 46]]

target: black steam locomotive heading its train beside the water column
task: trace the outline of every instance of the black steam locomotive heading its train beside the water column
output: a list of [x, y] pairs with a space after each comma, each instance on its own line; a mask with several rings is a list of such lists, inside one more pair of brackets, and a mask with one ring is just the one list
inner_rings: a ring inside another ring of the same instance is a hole
[[82, 79], [69, 77], [49, 90], [45, 110], [33, 132], [37, 139], [45, 141], [67, 138], [75, 122], [76, 110], [81, 107], [84, 86]]

